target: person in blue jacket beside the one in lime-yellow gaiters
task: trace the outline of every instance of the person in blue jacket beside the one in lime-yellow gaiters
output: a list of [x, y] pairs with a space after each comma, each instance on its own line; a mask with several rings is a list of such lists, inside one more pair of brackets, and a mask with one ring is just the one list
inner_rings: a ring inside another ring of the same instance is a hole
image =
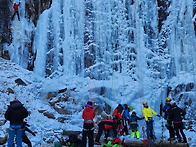
[[125, 135], [129, 134], [127, 123], [129, 123], [129, 119], [131, 118], [130, 114], [130, 109], [127, 104], [123, 105], [123, 113], [122, 113], [122, 124], [123, 124], [123, 134]]

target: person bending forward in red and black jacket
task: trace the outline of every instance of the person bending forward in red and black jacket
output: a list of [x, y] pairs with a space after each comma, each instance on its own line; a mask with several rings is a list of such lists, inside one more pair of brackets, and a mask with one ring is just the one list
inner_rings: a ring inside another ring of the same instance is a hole
[[101, 143], [99, 141], [100, 141], [100, 138], [101, 138], [101, 135], [102, 135], [103, 131], [107, 131], [109, 129], [112, 129], [113, 133], [114, 133], [114, 137], [116, 137], [117, 136], [117, 123], [118, 123], [117, 119], [114, 119], [114, 120], [102, 120], [98, 124], [99, 129], [98, 129], [98, 134], [97, 134], [97, 136], [95, 138], [95, 144], [96, 145], [101, 145]]

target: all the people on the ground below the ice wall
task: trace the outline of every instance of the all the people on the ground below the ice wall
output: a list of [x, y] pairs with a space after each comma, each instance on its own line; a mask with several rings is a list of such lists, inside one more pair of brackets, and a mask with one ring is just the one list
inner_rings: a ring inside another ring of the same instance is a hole
[[[154, 138], [153, 115], [158, 117], [160, 117], [160, 115], [153, 111], [148, 106], [146, 101], [143, 101], [142, 104], [143, 117], [138, 117], [132, 106], [128, 106], [127, 104], [119, 104], [115, 108], [112, 116], [109, 116], [106, 120], [102, 120], [98, 124], [98, 133], [94, 141], [95, 125], [93, 120], [95, 118], [95, 111], [93, 109], [93, 102], [88, 101], [82, 113], [82, 118], [84, 119], [82, 147], [86, 147], [87, 137], [89, 147], [93, 147], [94, 144], [101, 145], [100, 138], [103, 132], [105, 132], [104, 138], [107, 140], [111, 134], [113, 138], [117, 137], [118, 133], [120, 133], [120, 135], [128, 135], [128, 130], [130, 129], [131, 136], [139, 139], [140, 133], [138, 131], [137, 121], [142, 119], [145, 119], [146, 122], [147, 138]], [[130, 111], [132, 111], [131, 115]], [[164, 112], [164, 118], [167, 120], [166, 127], [169, 130], [169, 140], [173, 140], [176, 135], [178, 142], [187, 143], [186, 136], [183, 132], [184, 125], [182, 122], [183, 116], [186, 114], [186, 112], [179, 108], [175, 101], [171, 101], [171, 98], [166, 98], [166, 104], [162, 108], [162, 111]], [[17, 147], [22, 147], [22, 142], [26, 143], [29, 147], [32, 146], [30, 140], [25, 134], [25, 131], [28, 131], [35, 136], [35, 134], [27, 128], [27, 123], [24, 122], [24, 118], [27, 116], [27, 109], [18, 99], [14, 99], [10, 102], [10, 105], [5, 113], [5, 118], [10, 121], [8, 147], [13, 147], [15, 135]], [[182, 137], [179, 132], [181, 133]]]

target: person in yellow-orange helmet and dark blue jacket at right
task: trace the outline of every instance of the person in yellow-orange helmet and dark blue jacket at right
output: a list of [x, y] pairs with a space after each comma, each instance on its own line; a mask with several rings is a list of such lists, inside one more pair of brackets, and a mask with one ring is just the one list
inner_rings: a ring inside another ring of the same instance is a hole
[[171, 111], [171, 98], [167, 97], [166, 98], [166, 103], [165, 106], [163, 107], [163, 112], [164, 112], [164, 119], [167, 120], [167, 124], [165, 125], [167, 129], [169, 130], [169, 141], [174, 140], [174, 127], [172, 125], [172, 120], [169, 117], [170, 111]]

